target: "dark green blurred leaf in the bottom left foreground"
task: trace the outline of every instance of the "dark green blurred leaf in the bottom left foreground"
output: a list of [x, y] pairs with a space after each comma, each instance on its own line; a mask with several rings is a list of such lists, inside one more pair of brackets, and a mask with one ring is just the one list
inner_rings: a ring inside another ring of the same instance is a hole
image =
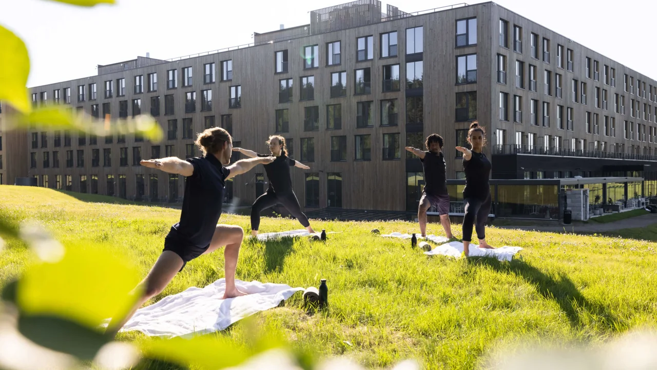
[[102, 346], [112, 341], [98, 330], [51, 315], [21, 314], [18, 317], [18, 331], [39, 346], [82, 360], [93, 359]]

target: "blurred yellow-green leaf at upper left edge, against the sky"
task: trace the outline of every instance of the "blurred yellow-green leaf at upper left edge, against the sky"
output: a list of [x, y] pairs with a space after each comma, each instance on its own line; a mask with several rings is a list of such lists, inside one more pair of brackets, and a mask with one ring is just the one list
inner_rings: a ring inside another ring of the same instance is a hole
[[0, 26], [0, 100], [18, 111], [28, 113], [28, 75], [30, 56], [25, 43], [13, 32]]

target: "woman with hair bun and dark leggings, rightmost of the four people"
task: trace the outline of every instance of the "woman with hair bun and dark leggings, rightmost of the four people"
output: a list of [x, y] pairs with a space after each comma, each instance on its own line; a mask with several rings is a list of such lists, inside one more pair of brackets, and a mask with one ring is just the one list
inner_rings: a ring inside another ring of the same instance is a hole
[[[491, 163], [482, 152], [486, 132], [477, 122], [470, 124], [468, 142], [472, 149], [457, 146], [463, 153], [463, 171], [465, 171], [465, 188], [463, 201], [465, 215], [463, 217], [463, 251], [470, 255], [470, 242], [472, 241], [472, 225], [479, 238], [479, 248], [494, 249], [486, 243], [486, 221], [491, 210], [491, 192], [488, 177], [491, 173]], [[476, 219], [476, 222], [475, 222]]]

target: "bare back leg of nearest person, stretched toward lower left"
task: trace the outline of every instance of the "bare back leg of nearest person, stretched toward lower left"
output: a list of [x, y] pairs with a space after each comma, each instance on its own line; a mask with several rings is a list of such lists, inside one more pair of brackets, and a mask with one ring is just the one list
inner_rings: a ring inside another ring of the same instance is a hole
[[166, 288], [182, 267], [183, 259], [179, 255], [172, 251], [163, 251], [155, 265], [150, 269], [147, 277], [133, 290], [132, 294], [141, 294], [135, 305], [125, 317], [113, 317], [107, 325], [106, 333], [112, 334], [112, 336], [116, 335], [139, 307]]

